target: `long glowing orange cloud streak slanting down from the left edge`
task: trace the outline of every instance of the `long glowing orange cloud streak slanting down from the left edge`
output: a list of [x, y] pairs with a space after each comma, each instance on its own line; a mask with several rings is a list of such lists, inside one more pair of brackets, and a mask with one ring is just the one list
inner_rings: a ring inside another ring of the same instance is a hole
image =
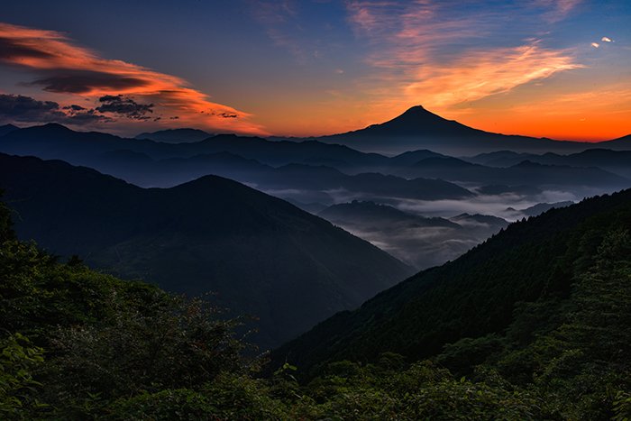
[[[59, 101], [63, 98], [78, 102], [76, 99], [80, 97], [97, 105], [102, 96], [133, 96], [142, 103], [153, 104], [155, 114], [178, 115], [182, 125], [266, 133], [261, 125], [250, 121], [251, 114], [211, 102], [206, 94], [190, 87], [182, 78], [122, 60], [102, 58], [95, 51], [76, 45], [61, 32], [0, 23], [0, 64], [30, 70], [37, 77], [26, 81], [25, 85], [59, 94]], [[114, 116], [125, 118], [129, 114], [114, 113]]]

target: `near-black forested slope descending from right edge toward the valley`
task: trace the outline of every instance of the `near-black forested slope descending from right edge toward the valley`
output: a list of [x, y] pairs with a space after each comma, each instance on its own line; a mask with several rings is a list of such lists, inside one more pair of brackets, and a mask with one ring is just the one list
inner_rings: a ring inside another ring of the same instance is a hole
[[515, 320], [517, 303], [568, 297], [572, 279], [593, 264], [607, 233], [629, 229], [631, 190], [552, 209], [331, 317], [275, 358], [307, 371], [328, 361], [374, 360], [381, 352], [416, 360], [462, 338], [501, 334]]

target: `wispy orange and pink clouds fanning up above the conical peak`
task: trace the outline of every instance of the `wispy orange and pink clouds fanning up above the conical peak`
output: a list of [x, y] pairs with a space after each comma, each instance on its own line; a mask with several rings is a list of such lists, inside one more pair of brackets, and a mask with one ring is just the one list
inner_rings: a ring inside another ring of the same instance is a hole
[[445, 110], [581, 68], [572, 50], [544, 46], [544, 25], [537, 23], [542, 16], [560, 20], [578, 4], [352, 1], [347, 10], [357, 36], [374, 47], [366, 86], [380, 87], [371, 91], [375, 103]]

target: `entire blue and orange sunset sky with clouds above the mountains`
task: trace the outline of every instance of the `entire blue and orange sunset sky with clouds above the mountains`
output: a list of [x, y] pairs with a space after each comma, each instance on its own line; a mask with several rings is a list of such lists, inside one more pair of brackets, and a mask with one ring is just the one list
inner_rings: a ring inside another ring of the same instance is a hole
[[6, 2], [0, 124], [317, 136], [413, 105], [496, 133], [631, 133], [631, 2]]

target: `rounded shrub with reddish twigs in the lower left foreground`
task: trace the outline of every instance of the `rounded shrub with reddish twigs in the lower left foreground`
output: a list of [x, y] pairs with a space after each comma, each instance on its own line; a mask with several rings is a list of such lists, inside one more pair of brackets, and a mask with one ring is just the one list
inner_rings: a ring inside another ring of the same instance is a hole
[[[216, 320], [202, 301], [167, 297], [140, 312], [111, 299], [113, 320], [53, 332], [50, 350], [57, 358], [50, 363], [49, 393], [133, 396], [197, 388], [222, 371], [245, 370], [234, 322]], [[65, 389], [68, 382], [73, 389]]]

